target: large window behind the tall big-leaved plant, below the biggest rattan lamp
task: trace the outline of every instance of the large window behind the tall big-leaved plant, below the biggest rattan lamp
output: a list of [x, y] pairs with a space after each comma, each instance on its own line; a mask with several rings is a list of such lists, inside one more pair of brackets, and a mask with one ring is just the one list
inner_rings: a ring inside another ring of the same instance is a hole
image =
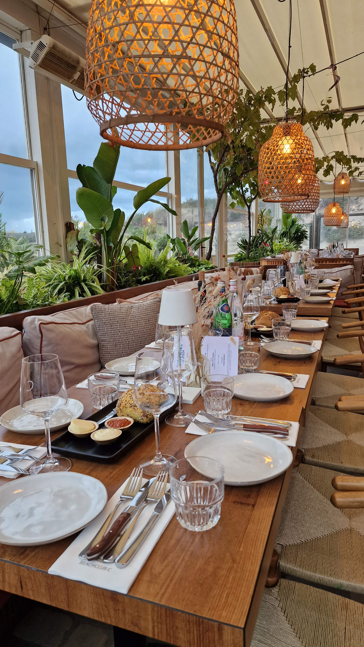
[[[100, 144], [105, 140], [100, 137], [100, 129], [87, 108], [85, 98], [81, 101], [76, 100], [72, 90], [65, 85], [61, 86], [61, 91], [67, 167], [69, 171], [76, 171], [78, 164], [92, 166]], [[138, 186], [147, 186], [162, 177], [166, 177], [166, 153], [164, 151], [142, 151], [122, 146], [114, 181], [118, 187], [112, 201], [114, 208], [120, 208], [125, 212], [125, 217], [128, 217], [134, 210], [133, 198], [138, 191]], [[132, 184], [135, 188], [128, 190], [120, 186], [122, 183]], [[80, 186], [78, 179], [70, 177], [72, 219], [80, 225], [84, 222], [85, 217], [76, 203], [78, 186]], [[168, 197], [159, 197], [158, 199], [161, 202], [168, 202]], [[159, 206], [154, 208], [153, 203], [147, 203], [134, 217], [130, 232], [143, 236], [145, 228], [147, 236], [155, 239], [159, 247], [162, 242], [166, 244], [166, 234], [169, 229], [168, 217], [164, 208]], [[161, 239], [163, 239], [162, 242]]]

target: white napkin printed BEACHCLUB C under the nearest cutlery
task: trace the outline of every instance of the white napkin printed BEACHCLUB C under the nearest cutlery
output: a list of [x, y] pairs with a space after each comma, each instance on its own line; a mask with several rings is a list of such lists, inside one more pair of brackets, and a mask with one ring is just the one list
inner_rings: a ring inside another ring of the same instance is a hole
[[[162, 536], [165, 531], [169, 521], [171, 521], [173, 514], [175, 514], [175, 504], [173, 501], [169, 501], [166, 508], [161, 512], [159, 518], [153, 525], [147, 538], [144, 540], [144, 543], [142, 543], [133, 558], [131, 558], [129, 564], [124, 568], [120, 569], [115, 564], [105, 564], [102, 560], [93, 560], [92, 562], [88, 562], [85, 559], [80, 559], [78, 556], [85, 546], [91, 542], [92, 537], [94, 537], [96, 532], [98, 532], [102, 526], [107, 515], [111, 512], [112, 507], [114, 507], [116, 501], [120, 498], [120, 494], [122, 493], [126, 483], [127, 481], [125, 481], [122, 487], [115, 492], [114, 496], [107, 501], [105, 508], [100, 512], [96, 519], [91, 521], [91, 523], [89, 523], [89, 525], [80, 532], [74, 542], [72, 542], [65, 552], [59, 556], [58, 560], [52, 564], [48, 570], [50, 575], [60, 575], [61, 577], [67, 578], [67, 580], [85, 582], [85, 584], [98, 586], [102, 589], [109, 589], [110, 591], [117, 591], [117, 593], [126, 594], [129, 591], [136, 576], [144, 566], [160, 536]], [[144, 483], [146, 483], [146, 479], [144, 479]], [[122, 512], [123, 508], [127, 507], [129, 503], [130, 501], [125, 501], [125, 504], [122, 503], [118, 512]], [[140, 517], [136, 521], [134, 529], [131, 532], [127, 545], [134, 539], [144, 526], [144, 523], [146, 523], [146, 521], [151, 517], [153, 509], [154, 505], [147, 505], [140, 514]]]

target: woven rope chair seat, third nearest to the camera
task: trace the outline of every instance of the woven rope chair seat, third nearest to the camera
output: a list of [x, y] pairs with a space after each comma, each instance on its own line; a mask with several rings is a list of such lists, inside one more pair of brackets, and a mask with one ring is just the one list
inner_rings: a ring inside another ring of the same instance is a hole
[[364, 474], [364, 416], [310, 406], [299, 446], [305, 463]]

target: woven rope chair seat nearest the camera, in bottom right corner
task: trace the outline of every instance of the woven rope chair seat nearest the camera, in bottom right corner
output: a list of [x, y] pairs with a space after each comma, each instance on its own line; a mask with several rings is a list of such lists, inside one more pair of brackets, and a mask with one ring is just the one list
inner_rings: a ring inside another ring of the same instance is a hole
[[292, 580], [265, 589], [252, 647], [359, 647], [364, 607]]

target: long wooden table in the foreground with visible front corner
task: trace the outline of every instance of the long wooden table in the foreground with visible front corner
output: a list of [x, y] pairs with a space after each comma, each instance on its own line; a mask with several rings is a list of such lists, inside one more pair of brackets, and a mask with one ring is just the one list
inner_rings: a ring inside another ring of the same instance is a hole
[[[295, 331], [294, 336], [324, 341], [326, 331]], [[303, 360], [280, 360], [262, 350], [261, 368], [308, 373], [308, 384], [305, 389], [294, 389], [281, 402], [262, 404], [233, 398], [232, 413], [298, 421], [301, 432], [320, 359], [321, 351]], [[91, 415], [88, 391], [73, 387], [69, 396], [82, 400], [83, 417]], [[186, 406], [187, 411], [193, 412], [201, 408], [201, 397]], [[1, 427], [0, 439], [28, 444], [43, 442], [42, 435], [19, 435]], [[181, 458], [193, 436], [187, 435], [184, 428], [164, 423], [160, 439], [163, 452]], [[72, 459], [71, 469], [100, 479], [112, 496], [133, 467], [154, 453], [154, 442], [151, 433], [117, 463]], [[292, 452], [295, 455], [295, 448]], [[226, 487], [220, 521], [207, 532], [186, 531], [173, 518], [127, 595], [48, 575], [50, 565], [74, 536], [29, 548], [0, 544], [0, 589], [178, 647], [248, 646], [291, 471], [292, 466], [263, 485]], [[0, 479], [0, 484], [4, 483], [8, 480]]]

